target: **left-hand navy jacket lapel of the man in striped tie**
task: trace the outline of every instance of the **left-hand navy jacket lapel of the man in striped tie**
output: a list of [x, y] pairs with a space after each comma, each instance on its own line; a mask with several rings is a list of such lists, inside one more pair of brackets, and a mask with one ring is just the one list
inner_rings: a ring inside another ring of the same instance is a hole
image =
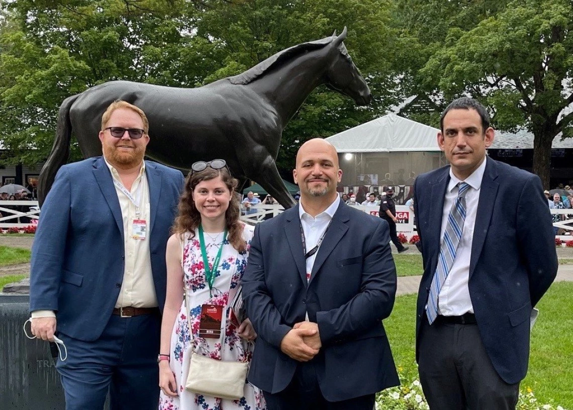
[[444, 201], [446, 197], [446, 190], [450, 182], [450, 169], [445, 168], [444, 174], [440, 176], [438, 181], [431, 188], [430, 200], [430, 215], [428, 216], [428, 229], [429, 238], [428, 246], [430, 259], [431, 274], [433, 274], [435, 267], [438, 265], [439, 248], [441, 246], [440, 234], [442, 231], [442, 216], [444, 215]]

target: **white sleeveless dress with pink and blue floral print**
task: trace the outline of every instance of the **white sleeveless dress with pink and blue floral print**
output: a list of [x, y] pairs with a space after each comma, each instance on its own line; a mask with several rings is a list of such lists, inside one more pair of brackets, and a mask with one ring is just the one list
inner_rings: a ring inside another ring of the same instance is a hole
[[[247, 242], [247, 250], [238, 253], [229, 241], [222, 243], [223, 232], [205, 234], [205, 247], [210, 265], [213, 263], [219, 246], [223, 246], [221, 262], [217, 273], [211, 296], [209, 285], [205, 277], [201, 245], [199, 244], [199, 232], [195, 230], [195, 236], [186, 234], [183, 242], [183, 278], [185, 290], [190, 306], [191, 333], [187, 320], [187, 307], [185, 298], [175, 319], [171, 333], [170, 367], [175, 374], [175, 382], [178, 388], [178, 397], [170, 397], [160, 392], [159, 410], [264, 410], [265, 399], [262, 392], [250, 383], [245, 382], [245, 396], [241, 400], [219, 399], [198, 395], [185, 389], [187, 373], [189, 372], [189, 360], [191, 354], [191, 337], [195, 341], [195, 352], [225, 361], [244, 361], [252, 357], [252, 349], [249, 344], [238, 336], [236, 326], [226, 321], [227, 309], [223, 309], [223, 329], [225, 329], [224, 342], [222, 339], [209, 339], [199, 337], [199, 322], [201, 320], [201, 306], [204, 304], [226, 306], [229, 299], [229, 290], [234, 289], [241, 282], [241, 278], [247, 264], [250, 241], [253, 238], [253, 227], [246, 225], [243, 229], [243, 238]], [[192, 335], [192, 336], [191, 336]]]

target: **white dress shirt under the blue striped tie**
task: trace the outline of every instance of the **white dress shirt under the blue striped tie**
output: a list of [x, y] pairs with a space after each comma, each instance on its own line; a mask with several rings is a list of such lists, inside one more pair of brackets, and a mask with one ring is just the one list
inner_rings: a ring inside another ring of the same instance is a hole
[[[484, 178], [486, 160], [465, 179], [470, 188], [466, 192], [466, 218], [464, 230], [460, 239], [460, 245], [456, 252], [456, 259], [450, 269], [450, 273], [438, 295], [438, 314], [443, 316], [461, 316], [464, 313], [474, 313], [472, 299], [469, 295], [469, 263], [472, 257], [472, 242], [474, 226], [476, 224], [477, 204], [480, 199], [481, 180]], [[450, 208], [458, 196], [458, 183], [462, 182], [450, 168], [450, 182], [446, 190], [444, 208], [442, 210], [442, 230], [440, 238], [444, 240], [444, 232], [448, 224]]]

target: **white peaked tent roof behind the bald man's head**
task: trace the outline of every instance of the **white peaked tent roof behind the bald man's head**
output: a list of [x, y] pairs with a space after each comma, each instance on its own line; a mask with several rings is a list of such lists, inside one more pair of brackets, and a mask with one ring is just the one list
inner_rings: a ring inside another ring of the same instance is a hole
[[439, 129], [388, 114], [326, 140], [336, 152], [439, 151]]

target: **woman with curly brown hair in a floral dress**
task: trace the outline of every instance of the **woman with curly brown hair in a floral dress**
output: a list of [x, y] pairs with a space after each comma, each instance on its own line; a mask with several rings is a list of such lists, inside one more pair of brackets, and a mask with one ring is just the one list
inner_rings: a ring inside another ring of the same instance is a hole
[[[216, 168], [216, 169], [215, 169]], [[245, 271], [253, 228], [240, 222], [234, 194], [237, 180], [222, 160], [195, 163], [185, 182], [175, 219], [174, 235], [167, 242], [167, 297], [163, 310], [159, 356], [159, 410], [263, 410], [262, 393], [245, 382], [244, 397], [227, 400], [199, 395], [185, 389], [191, 349], [224, 361], [250, 360], [253, 326], [246, 319], [237, 328], [226, 320], [227, 302], [240, 285]], [[210, 269], [203, 262], [201, 234]], [[217, 257], [221, 249], [220, 259]], [[218, 259], [217, 266], [213, 266]], [[213, 272], [209, 285], [207, 275]], [[185, 282], [185, 288], [183, 283]], [[189, 310], [183, 292], [187, 292]], [[201, 306], [223, 306], [221, 338], [199, 337]], [[188, 318], [188, 312], [190, 317]], [[189, 331], [191, 322], [191, 332]]]

